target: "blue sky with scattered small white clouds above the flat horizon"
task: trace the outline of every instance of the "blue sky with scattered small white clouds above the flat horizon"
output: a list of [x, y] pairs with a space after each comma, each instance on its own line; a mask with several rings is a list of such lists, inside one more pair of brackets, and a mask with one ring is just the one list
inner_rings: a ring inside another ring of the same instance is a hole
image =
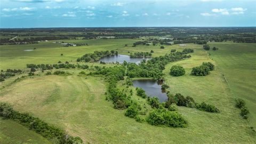
[[1, 28], [251, 26], [256, 0], [0, 0]]

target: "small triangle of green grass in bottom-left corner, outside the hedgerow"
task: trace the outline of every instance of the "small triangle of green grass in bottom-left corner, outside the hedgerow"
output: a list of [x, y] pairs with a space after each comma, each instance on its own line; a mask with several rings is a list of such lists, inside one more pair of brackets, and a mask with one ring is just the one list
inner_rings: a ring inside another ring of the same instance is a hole
[[51, 143], [40, 134], [10, 119], [0, 117], [0, 143]]

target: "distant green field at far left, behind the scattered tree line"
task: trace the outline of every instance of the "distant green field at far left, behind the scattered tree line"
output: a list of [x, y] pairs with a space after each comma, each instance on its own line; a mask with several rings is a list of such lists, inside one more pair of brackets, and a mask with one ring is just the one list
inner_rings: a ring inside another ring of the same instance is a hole
[[[75, 61], [85, 53], [102, 50], [116, 50], [125, 44], [132, 45], [134, 39], [90, 39], [63, 40], [65, 43], [87, 43], [89, 46], [63, 47], [60, 43], [41, 42], [38, 44], [1, 45], [0, 69], [25, 68], [27, 63], [57, 63], [61, 61]], [[35, 51], [24, 51], [34, 49]], [[60, 56], [60, 54], [63, 56]], [[15, 65], [13, 65], [15, 63]]]

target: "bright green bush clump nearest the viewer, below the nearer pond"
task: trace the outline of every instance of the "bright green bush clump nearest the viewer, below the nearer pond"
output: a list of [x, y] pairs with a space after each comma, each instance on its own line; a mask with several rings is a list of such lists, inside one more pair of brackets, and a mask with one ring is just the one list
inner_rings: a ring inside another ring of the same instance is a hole
[[177, 111], [168, 111], [164, 108], [150, 111], [147, 122], [156, 126], [187, 127], [187, 121]]

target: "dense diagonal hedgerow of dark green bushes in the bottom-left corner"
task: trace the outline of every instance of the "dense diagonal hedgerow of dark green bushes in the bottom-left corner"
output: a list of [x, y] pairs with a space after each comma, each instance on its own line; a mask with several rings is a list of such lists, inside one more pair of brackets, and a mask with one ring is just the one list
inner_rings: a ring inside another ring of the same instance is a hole
[[0, 102], [0, 116], [13, 119], [47, 139], [57, 139], [58, 143], [83, 143], [81, 138], [74, 138], [59, 127], [47, 124], [28, 113], [19, 113], [19, 111], [13, 110], [12, 106], [4, 102]]

